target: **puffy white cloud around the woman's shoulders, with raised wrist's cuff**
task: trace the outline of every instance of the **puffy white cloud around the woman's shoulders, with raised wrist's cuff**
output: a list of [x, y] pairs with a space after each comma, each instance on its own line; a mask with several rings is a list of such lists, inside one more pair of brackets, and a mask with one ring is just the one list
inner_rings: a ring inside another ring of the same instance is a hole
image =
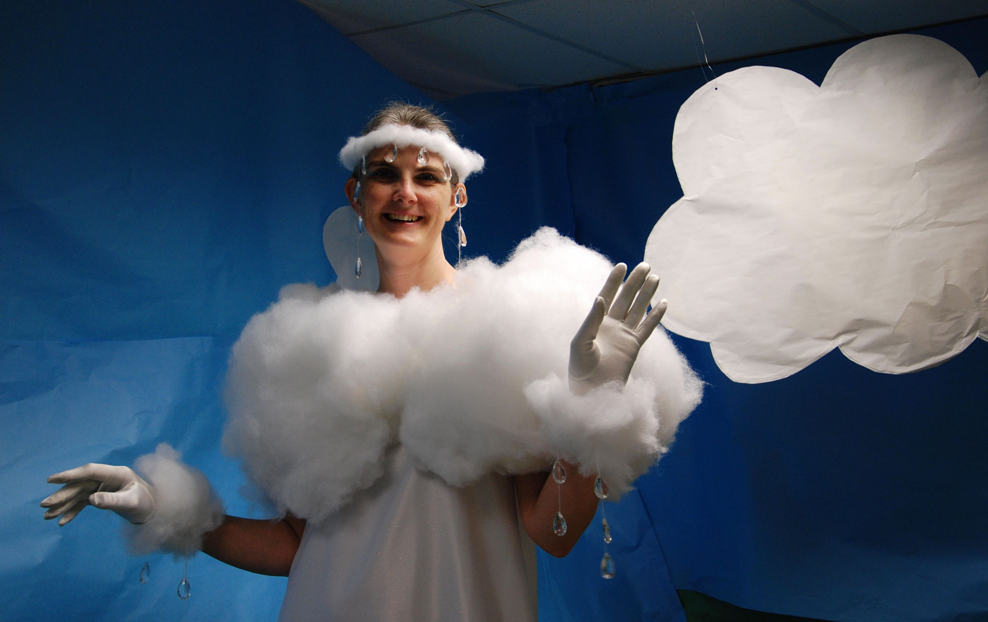
[[625, 387], [569, 392], [569, 343], [611, 271], [552, 229], [456, 286], [393, 296], [289, 285], [233, 348], [224, 446], [282, 511], [319, 521], [402, 442], [453, 486], [559, 456], [628, 490], [700, 401], [663, 331]]

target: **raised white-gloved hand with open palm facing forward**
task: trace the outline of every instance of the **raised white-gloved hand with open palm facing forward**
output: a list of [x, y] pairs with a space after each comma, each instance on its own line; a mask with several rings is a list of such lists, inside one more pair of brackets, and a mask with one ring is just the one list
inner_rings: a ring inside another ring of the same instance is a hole
[[594, 301], [569, 348], [569, 386], [583, 395], [609, 382], [627, 382], [642, 344], [659, 325], [668, 303], [648, 304], [659, 277], [638, 264], [621, 285], [627, 267], [617, 264]]

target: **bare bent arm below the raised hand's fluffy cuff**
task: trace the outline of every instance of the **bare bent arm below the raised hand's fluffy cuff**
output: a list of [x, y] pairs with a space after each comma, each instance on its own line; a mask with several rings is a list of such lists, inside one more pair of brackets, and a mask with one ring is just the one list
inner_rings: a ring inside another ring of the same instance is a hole
[[[580, 475], [577, 466], [562, 462], [566, 482], [556, 484], [548, 473], [515, 476], [515, 492], [522, 524], [533, 542], [553, 557], [565, 557], [597, 513], [594, 478]], [[561, 495], [560, 495], [561, 494]], [[566, 534], [552, 531], [552, 519], [559, 509], [566, 519]]]

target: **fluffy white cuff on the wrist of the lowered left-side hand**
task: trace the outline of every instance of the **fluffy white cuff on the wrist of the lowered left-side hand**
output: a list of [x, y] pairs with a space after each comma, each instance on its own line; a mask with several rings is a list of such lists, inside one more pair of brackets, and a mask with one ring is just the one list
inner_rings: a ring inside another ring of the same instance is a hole
[[223, 504], [199, 469], [183, 464], [181, 454], [166, 443], [137, 458], [134, 470], [154, 487], [155, 511], [139, 525], [127, 525], [134, 555], [157, 550], [175, 557], [192, 557], [203, 545], [203, 534], [223, 521]]

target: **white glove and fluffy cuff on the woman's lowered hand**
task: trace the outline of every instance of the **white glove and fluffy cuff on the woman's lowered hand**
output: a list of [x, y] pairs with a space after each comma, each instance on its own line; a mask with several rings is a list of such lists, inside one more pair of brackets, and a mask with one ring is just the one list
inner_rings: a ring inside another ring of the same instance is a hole
[[145, 554], [163, 549], [189, 557], [203, 544], [203, 534], [223, 521], [223, 505], [206, 476], [180, 461], [179, 452], [161, 443], [154, 453], [137, 458], [137, 472], [124, 466], [87, 464], [48, 478], [64, 486], [41, 502], [44, 518], [72, 520], [86, 505], [112, 509], [137, 525], [127, 535], [130, 549]]

